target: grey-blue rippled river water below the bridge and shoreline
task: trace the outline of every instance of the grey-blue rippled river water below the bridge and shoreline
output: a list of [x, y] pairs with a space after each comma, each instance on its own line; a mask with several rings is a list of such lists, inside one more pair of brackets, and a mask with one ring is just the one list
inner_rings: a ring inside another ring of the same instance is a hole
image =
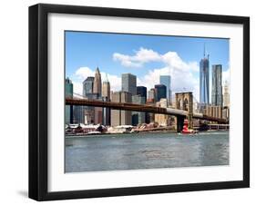
[[229, 132], [108, 134], [66, 137], [66, 172], [229, 164]]

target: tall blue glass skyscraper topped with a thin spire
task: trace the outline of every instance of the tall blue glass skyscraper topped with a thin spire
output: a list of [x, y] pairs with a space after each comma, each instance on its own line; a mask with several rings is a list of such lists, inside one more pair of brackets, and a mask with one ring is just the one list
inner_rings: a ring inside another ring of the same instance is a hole
[[200, 60], [200, 103], [209, 104], [209, 55]]

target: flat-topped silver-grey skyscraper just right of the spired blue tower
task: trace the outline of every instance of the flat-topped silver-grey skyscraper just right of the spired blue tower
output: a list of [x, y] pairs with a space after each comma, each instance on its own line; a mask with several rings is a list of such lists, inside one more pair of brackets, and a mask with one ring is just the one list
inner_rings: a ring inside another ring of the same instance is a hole
[[222, 106], [222, 66], [212, 65], [211, 104]]

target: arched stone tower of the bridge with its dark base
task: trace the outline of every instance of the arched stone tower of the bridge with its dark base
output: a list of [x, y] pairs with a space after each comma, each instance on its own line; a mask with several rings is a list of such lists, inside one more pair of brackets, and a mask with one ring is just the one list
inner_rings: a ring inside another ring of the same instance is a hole
[[[179, 110], [187, 111], [189, 128], [193, 128], [193, 93], [175, 93], [176, 108]], [[180, 132], [183, 128], [184, 117], [177, 117], [177, 132]]]

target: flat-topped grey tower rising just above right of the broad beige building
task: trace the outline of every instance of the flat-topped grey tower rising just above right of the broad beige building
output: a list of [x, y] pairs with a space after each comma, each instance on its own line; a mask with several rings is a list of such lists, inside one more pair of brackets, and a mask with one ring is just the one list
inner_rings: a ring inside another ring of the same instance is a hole
[[137, 94], [137, 77], [131, 73], [122, 74], [122, 92]]

